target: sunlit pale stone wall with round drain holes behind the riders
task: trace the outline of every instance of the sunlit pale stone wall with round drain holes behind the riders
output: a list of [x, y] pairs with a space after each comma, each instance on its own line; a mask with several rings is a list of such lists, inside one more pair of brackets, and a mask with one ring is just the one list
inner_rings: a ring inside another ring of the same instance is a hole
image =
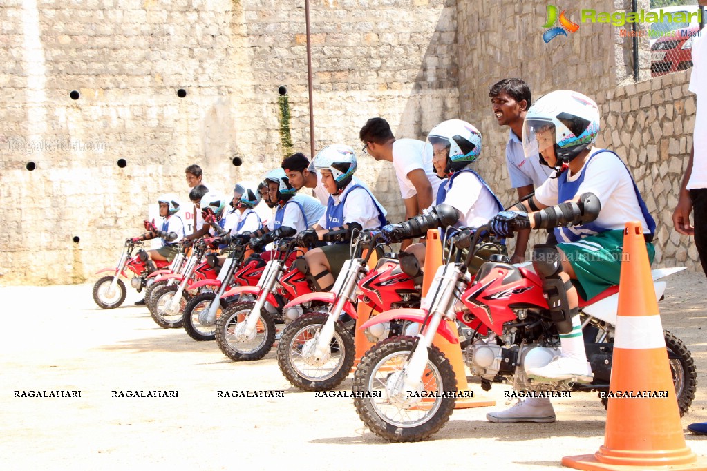
[[[111, 266], [158, 194], [187, 202], [189, 164], [225, 192], [278, 166], [280, 85], [293, 148], [309, 154], [303, 3], [5, 1], [4, 282], [83, 282]], [[417, 138], [455, 117], [454, 0], [319, 0], [310, 8], [317, 149], [360, 149], [369, 117]], [[361, 155], [360, 168], [391, 220], [401, 218], [392, 167]]]

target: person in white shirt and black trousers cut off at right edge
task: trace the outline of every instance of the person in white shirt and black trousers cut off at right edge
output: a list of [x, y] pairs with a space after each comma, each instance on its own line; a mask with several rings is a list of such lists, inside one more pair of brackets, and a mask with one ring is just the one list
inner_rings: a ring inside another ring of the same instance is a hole
[[[699, 0], [702, 14], [707, 0]], [[704, 33], [703, 29], [701, 33]], [[680, 198], [672, 213], [675, 230], [683, 235], [694, 235], [702, 270], [707, 275], [707, 42], [702, 36], [692, 38], [692, 75], [688, 90], [697, 95], [695, 129], [692, 150], [680, 186]], [[694, 210], [694, 225], [690, 213]], [[707, 422], [689, 424], [694, 434], [707, 434]]]

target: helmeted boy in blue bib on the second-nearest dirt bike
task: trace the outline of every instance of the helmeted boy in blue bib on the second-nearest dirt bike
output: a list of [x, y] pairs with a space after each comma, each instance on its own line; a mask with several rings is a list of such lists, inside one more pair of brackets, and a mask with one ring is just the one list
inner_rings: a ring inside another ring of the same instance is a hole
[[[481, 133], [474, 126], [460, 119], [443, 121], [430, 131], [427, 141], [433, 149], [437, 176], [446, 181], [439, 188], [436, 206], [429, 208], [431, 214], [383, 228], [391, 242], [424, 235], [427, 229], [443, 225], [440, 222], [453, 227], [479, 227], [503, 209], [486, 181], [469, 168], [481, 154]], [[448, 215], [450, 207], [453, 212]], [[436, 217], [430, 219], [431, 215]], [[431, 226], [435, 221], [436, 225]], [[424, 266], [425, 244], [411, 245], [405, 251]]]

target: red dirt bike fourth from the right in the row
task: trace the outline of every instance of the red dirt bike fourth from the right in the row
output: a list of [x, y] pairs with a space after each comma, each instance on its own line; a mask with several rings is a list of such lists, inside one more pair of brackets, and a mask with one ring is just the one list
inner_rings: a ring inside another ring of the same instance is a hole
[[[201, 290], [184, 308], [182, 323], [189, 337], [197, 341], [216, 338], [216, 320], [228, 305], [224, 293], [234, 284], [250, 281], [243, 273], [238, 278], [233, 276], [243, 264], [246, 249], [247, 246], [238, 241], [229, 244], [228, 257], [219, 268], [216, 280], [201, 280], [189, 287], [189, 290]], [[213, 257], [211, 263], [216, 263]]]

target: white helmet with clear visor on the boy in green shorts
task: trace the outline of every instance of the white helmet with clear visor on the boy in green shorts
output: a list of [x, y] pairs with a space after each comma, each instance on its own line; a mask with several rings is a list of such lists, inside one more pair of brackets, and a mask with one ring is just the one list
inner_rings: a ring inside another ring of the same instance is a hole
[[[554, 149], [556, 166], [568, 162], [597, 140], [599, 108], [590, 97], [556, 90], [535, 102], [523, 122], [523, 151], [534, 157]], [[540, 163], [547, 165], [544, 159]]]

